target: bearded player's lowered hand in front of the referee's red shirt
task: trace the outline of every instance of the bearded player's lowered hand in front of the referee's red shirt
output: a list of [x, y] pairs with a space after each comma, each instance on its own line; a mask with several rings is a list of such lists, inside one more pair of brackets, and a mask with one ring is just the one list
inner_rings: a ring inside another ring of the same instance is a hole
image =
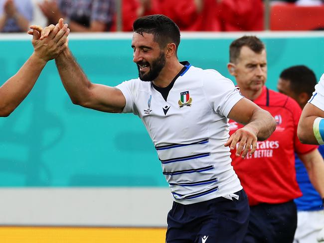
[[230, 149], [235, 149], [236, 144], [239, 143], [236, 149], [236, 156], [245, 158], [247, 153], [252, 155], [257, 148], [257, 132], [248, 125], [238, 129], [234, 132], [224, 144], [224, 146], [230, 146]]

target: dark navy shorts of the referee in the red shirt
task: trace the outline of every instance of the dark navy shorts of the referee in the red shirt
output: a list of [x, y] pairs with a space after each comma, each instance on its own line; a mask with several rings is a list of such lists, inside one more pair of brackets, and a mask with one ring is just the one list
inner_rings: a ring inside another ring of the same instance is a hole
[[289, 201], [252, 206], [249, 221], [244, 243], [292, 243], [297, 228], [296, 204]]

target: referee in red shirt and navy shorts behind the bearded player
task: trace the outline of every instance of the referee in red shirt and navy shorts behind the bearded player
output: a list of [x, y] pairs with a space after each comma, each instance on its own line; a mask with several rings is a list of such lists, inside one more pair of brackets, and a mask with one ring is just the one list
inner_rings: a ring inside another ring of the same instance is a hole
[[[308, 170], [310, 179], [324, 197], [320, 175], [324, 164], [317, 146], [302, 144], [297, 137], [301, 108], [292, 98], [269, 90], [267, 58], [263, 42], [255, 36], [243, 36], [230, 45], [228, 70], [236, 79], [243, 96], [276, 119], [277, 128], [257, 149], [245, 158], [231, 151], [232, 165], [250, 204], [248, 233], [244, 243], [292, 243], [297, 227], [294, 199], [302, 196], [296, 181], [296, 152]], [[242, 125], [230, 121], [230, 134]]]

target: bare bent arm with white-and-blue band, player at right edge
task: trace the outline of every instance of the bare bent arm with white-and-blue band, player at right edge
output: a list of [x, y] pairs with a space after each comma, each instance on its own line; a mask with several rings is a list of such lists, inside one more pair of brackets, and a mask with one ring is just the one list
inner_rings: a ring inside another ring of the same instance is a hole
[[307, 103], [302, 112], [297, 129], [298, 138], [302, 143], [319, 144], [313, 129], [314, 121], [317, 118], [324, 118], [324, 111], [311, 103]]

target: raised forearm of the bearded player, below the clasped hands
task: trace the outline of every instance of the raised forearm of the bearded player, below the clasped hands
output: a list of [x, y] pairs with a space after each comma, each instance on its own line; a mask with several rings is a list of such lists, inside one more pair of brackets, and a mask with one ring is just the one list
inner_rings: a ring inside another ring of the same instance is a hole
[[83, 105], [88, 97], [91, 82], [88, 80], [78, 63], [75, 61], [69, 49], [63, 51], [55, 63], [61, 81], [71, 101], [76, 105]]

